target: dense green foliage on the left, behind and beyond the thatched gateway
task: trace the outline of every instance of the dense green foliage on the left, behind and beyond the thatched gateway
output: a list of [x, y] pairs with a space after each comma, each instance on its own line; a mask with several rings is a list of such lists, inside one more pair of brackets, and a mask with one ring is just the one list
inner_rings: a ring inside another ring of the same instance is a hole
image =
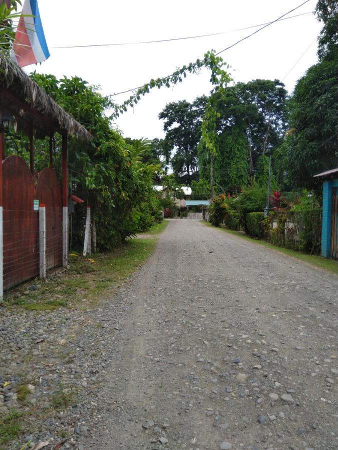
[[[139, 139], [127, 143], [112, 128], [106, 115], [111, 101], [96, 86], [79, 77], [58, 80], [54, 75], [31, 76], [93, 135], [91, 142], [75, 138], [68, 142], [70, 192], [85, 200], [84, 206], [76, 206], [72, 217], [72, 244], [82, 243], [87, 204], [92, 208], [99, 249], [111, 248], [160, 219], [161, 207], [152, 185], [161, 167], [151, 157], [152, 142]], [[54, 166], [60, 176], [60, 136], [55, 135], [55, 139]], [[9, 152], [28, 157], [26, 137], [12, 133], [7, 145]], [[48, 165], [48, 146], [36, 141], [36, 147], [36, 168], [41, 170]]]

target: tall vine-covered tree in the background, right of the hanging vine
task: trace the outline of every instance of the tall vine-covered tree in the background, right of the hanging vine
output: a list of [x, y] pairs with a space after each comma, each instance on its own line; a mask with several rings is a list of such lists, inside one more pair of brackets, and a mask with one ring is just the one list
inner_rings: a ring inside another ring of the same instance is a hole
[[[214, 182], [238, 190], [255, 174], [259, 156], [282, 141], [286, 90], [279, 80], [256, 79], [225, 87], [212, 97], [217, 117]], [[203, 139], [198, 162], [201, 176], [210, 179], [211, 157]]]

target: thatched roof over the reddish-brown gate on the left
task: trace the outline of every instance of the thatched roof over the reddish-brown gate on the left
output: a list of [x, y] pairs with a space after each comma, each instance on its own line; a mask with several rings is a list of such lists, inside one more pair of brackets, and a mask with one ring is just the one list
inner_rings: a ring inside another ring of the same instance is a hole
[[[27, 131], [33, 121], [37, 137], [54, 131], [65, 132], [83, 140], [90, 140], [87, 129], [58, 105], [15, 62], [0, 53], [1, 103], [7, 112], [13, 113], [18, 129]], [[16, 102], [16, 99], [20, 100]], [[22, 104], [20, 104], [22, 102]], [[27, 107], [25, 107], [27, 106]]]

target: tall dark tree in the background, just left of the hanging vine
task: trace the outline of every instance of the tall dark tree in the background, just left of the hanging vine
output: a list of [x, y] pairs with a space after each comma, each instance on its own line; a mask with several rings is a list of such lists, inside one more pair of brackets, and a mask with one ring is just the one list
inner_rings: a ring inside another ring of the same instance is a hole
[[201, 138], [201, 123], [207, 97], [197, 97], [192, 103], [186, 100], [168, 103], [159, 118], [164, 120], [166, 136], [164, 155], [171, 163], [179, 183], [190, 184], [198, 171], [197, 145]]

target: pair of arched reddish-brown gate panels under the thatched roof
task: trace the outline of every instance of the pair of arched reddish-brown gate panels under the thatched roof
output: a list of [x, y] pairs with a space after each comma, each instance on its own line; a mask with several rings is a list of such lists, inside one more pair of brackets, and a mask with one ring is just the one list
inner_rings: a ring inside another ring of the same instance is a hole
[[36, 177], [18, 156], [3, 162], [4, 289], [39, 275], [39, 212], [33, 200], [46, 204], [47, 269], [62, 264], [62, 198], [51, 168]]

